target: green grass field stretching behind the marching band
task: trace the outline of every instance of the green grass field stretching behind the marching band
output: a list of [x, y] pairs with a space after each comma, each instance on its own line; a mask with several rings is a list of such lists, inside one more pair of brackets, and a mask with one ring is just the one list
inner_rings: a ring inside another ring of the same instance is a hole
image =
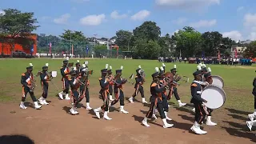
[[[142, 69], [146, 73], [146, 83], [144, 86], [145, 95], [147, 98], [150, 97], [150, 82], [151, 74], [154, 73], [154, 67], [162, 66], [162, 63], [152, 60], [123, 60], [123, 59], [80, 59], [80, 62], [89, 62], [90, 70], [94, 70], [94, 74], [90, 77], [90, 95], [91, 97], [98, 97], [98, 77], [100, 76], [100, 70], [102, 70], [106, 63], [112, 66], [113, 70], [117, 70], [120, 66], [124, 66], [122, 77], [128, 78], [130, 74], [135, 74], [135, 70], [138, 65], [142, 66]], [[42, 66], [49, 63], [49, 70], [58, 71], [58, 77], [54, 78], [54, 83], [61, 90], [62, 84], [60, 82], [60, 67], [62, 66], [62, 60], [60, 59], [2, 59], [0, 60], [0, 102], [19, 102], [22, 95], [22, 85], [20, 84], [21, 74], [26, 71], [26, 66], [29, 63], [34, 65], [34, 74], [38, 70], [42, 70]], [[76, 59], [71, 59], [70, 62], [76, 62]], [[192, 73], [196, 70], [195, 64], [184, 64], [182, 63], [165, 63], [166, 70], [173, 68], [174, 64], [177, 65], [178, 74], [181, 76], [186, 75], [190, 78], [190, 82], [193, 80]], [[210, 66], [213, 75], [219, 75], [224, 79], [226, 91], [226, 104], [225, 107], [238, 109], [238, 110], [253, 110], [253, 96], [252, 82], [255, 77], [255, 66]], [[37, 90], [35, 90], [36, 97], [40, 97], [42, 90], [39, 86], [39, 78], [37, 78]], [[183, 102], [190, 102], [190, 82], [181, 82], [181, 86], [178, 87], [178, 93], [182, 96]], [[125, 93], [126, 97], [129, 98], [134, 92], [133, 86], [126, 84], [125, 89], [128, 91]], [[58, 94], [57, 88], [50, 84], [50, 97], [54, 97]], [[29, 98], [29, 96], [27, 97]], [[173, 102], [176, 102], [172, 98]]]

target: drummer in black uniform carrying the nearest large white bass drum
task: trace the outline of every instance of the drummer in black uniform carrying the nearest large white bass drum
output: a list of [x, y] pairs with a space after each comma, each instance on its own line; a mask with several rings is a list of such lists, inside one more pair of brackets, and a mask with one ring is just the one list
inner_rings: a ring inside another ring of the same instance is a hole
[[202, 81], [201, 71], [197, 70], [193, 73], [194, 82], [190, 86], [191, 90], [191, 103], [194, 103], [195, 115], [194, 115], [194, 125], [190, 128], [195, 134], [206, 134], [207, 132], [200, 129], [202, 121], [206, 117], [206, 112], [203, 110], [202, 102], [206, 102], [205, 99], [201, 98], [202, 86], [200, 85]]

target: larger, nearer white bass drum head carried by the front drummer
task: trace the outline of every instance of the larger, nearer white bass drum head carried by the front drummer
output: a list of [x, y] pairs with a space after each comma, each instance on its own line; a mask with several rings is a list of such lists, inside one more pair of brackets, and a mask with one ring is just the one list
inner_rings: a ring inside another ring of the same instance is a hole
[[202, 91], [201, 98], [205, 99], [207, 103], [204, 105], [210, 109], [218, 109], [226, 102], [225, 91], [219, 86], [206, 86]]

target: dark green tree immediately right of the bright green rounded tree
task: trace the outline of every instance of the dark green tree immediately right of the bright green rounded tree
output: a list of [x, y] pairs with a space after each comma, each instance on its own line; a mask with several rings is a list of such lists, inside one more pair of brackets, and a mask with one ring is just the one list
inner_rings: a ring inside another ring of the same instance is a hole
[[202, 34], [202, 51], [205, 56], [215, 56], [218, 48], [222, 44], [222, 34], [218, 31], [205, 32]]

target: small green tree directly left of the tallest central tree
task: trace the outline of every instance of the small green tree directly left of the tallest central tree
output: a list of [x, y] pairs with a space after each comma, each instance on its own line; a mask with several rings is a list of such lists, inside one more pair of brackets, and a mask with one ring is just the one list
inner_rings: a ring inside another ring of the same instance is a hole
[[133, 37], [133, 34], [127, 30], [118, 30], [116, 32], [116, 44], [120, 47], [121, 50], [127, 50], [130, 45], [130, 40]]

